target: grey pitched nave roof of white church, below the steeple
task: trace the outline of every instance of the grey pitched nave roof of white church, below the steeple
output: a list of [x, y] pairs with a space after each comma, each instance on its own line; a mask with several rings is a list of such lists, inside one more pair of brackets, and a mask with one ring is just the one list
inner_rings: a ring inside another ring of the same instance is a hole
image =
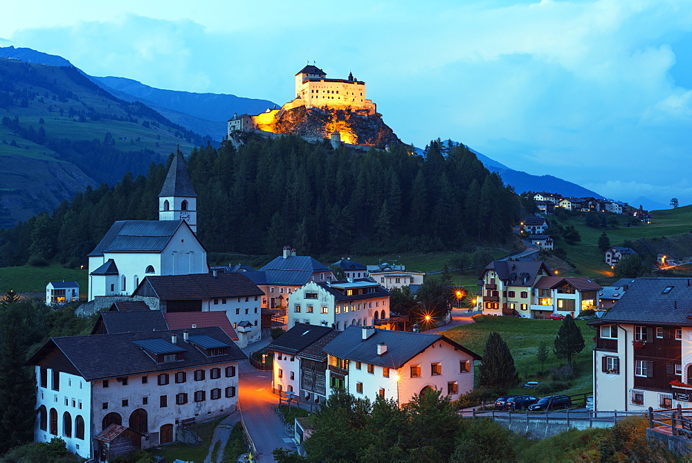
[[184, 220], [118, 220], [89, 257], [107, 252], [160, 253], [182, 224]]

